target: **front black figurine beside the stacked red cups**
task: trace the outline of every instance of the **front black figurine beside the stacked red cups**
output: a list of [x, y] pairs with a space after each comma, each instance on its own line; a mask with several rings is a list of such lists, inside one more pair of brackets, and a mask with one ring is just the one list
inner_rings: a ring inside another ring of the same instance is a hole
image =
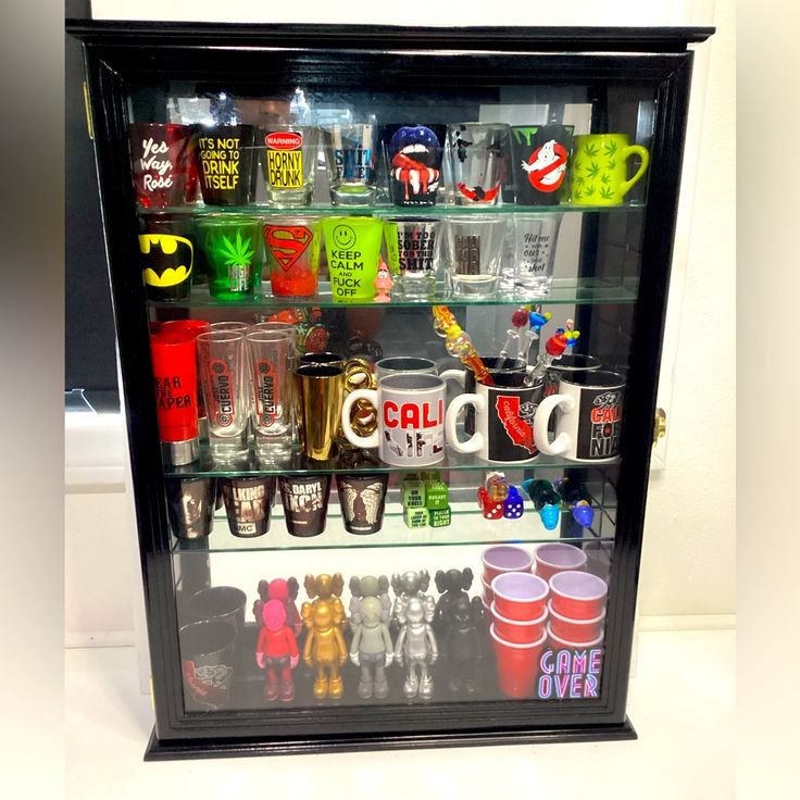
[[454, 695], [474, 695], [476, 667], [484, 657], [484, 608], [479, 597], [472, 600], [463, 591], [454, 593], [448, 607], [450, 624], [445, 632], [442, 652], [447, 655], [448, 688]]

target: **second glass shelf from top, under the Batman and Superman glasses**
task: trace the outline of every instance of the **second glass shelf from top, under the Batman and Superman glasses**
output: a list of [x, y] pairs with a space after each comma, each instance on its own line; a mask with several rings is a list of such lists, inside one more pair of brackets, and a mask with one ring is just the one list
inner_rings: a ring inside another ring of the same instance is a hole
[[542, 298], [529, 298], [522, 296], [503, 295], [489, 299], [468, 300], [464, 298], [450, 297], [445, 284], [439, 283], [430, 300], [404, 300], [393, 297], [391, 302], [377, 304], [372, 300], [362, 302], [336, 302], [330, 291], [330, 284], [320, 282], [320, 290], [314, 297], [276, 297], [271, 290], [268, 283], [264, 282], [253, 297], [245, 300], [217, 300], [209, 295], [209, 287], [204, 285], [193, 286], [190, 296], [185, 300], [155, 301], [149, 300], [148, 305], [153, 309], [230, 309], [249, 310], [265, 308], [327, 308], [327, 309], [353, 309], [353, 308], [408, 308], [425, 309], [432, 305], [447, 304], [452, 308], [470, 305], [520, 305], [521, 303], [536, 303], [540, 305], [599, 305], [609, 304], [633, 304], [636, 302], [638, 280], [634, 278], [611, 283], [596, 278], [554, 278], [550, 293]]

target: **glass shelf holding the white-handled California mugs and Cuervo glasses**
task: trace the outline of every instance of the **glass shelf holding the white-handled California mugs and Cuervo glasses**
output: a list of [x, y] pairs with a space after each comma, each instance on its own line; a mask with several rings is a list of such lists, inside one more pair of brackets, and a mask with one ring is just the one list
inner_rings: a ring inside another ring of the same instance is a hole
[[[433, 464], [426, 470], [445, 471], [470, 471], [470, 470], [500, 470], [509, 473], [511, 471], [533, 471], [533, 470], [591, 470], [596, 467], [617, 466], [620, 459], [612, 461], [596, 462], [577, 462], [568, 461], [553, 455], [539, 454], [534, 461], [527, 464], [490, 464], [480, 461], [474, 455], [457, 453], [448, 449], [443, 461]], [[247, 477], [254, 475], [286, 475], [288, 473], [303, 474], [336, 474], [336, 473], [402, 473], [418, 472], [412, 467], [395, 466], [386, 464], [377, 455], [377, 450], [357, 450], [341, 451], [336, 458], [328, 461], [310, 461], [300, 453], [287, 454], [283, 458], [276, 458], [274, 461], [266, 463], [257, 460], [255, 455], [250, 452], [247, 458], [239, 462], [215, 463], [208, 447], [201, 447], [200, 459], [183, 466], [164, 465], [164, 474], [166, 477]]]

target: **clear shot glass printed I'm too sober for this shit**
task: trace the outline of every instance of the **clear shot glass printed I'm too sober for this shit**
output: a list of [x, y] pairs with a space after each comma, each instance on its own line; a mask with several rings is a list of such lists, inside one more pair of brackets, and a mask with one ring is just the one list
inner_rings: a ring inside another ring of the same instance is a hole
[[427, 300], [436, 290], [439, 220], [386, 217], [384, 238], [397, 288], [407, 300]]

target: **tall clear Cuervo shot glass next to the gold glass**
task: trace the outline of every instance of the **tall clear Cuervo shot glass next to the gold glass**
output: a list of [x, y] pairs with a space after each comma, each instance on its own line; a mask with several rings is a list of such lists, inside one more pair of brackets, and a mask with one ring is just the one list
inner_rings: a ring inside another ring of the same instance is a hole
[[293, 336], [255, 328], [247, 334], [246, 354], [255, 451], [259, 455], [288, 453], [295, 439]]

